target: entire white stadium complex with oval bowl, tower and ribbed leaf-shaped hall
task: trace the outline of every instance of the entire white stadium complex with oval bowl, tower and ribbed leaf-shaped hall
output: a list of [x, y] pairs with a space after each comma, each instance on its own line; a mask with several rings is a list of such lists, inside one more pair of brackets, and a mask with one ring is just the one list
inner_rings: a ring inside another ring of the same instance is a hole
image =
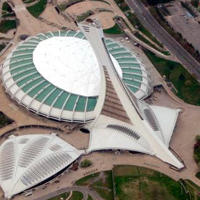
[[7, 198], [48, 181], [94, 151], [140, 152], [184, 168], [169, 150], [181, 110], [143, 100], [152, 92], [148, 72], [134, 52], [104, 37], [98, 21], [80, 23], [79, 28], [30, 37], [3, 64], [6, 92], [20, 105], [89, 129], [84, 150], [54, 134], [4, 141], [0, 185]]

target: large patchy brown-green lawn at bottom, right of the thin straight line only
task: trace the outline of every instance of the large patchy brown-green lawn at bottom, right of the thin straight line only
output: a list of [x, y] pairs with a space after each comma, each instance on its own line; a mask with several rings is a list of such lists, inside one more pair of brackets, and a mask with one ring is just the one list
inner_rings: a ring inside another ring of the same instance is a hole
[[114, 185], [118, 200], [187, 200], [179, 182], [151, 169], [115, 166]]

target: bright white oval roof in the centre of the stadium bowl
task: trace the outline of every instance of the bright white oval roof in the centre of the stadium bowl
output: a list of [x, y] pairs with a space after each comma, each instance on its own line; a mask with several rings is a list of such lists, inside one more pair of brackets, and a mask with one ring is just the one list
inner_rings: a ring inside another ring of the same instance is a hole
[[[111, 58], [122, 77], [117, 60], [112, 55]], [[98, 61], [87, 40], [75, 37], [43, 40], [33, 52], [33, 62], [38, 72], [53, 85], [77, 95], [99, 95]]]

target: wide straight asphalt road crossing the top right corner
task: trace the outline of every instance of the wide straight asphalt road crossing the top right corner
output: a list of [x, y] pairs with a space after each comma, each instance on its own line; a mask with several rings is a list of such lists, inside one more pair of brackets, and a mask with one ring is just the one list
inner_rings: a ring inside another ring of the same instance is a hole
[[130, 8], [134, 10], [141, 23], [165, 45], [173, 55], [194, 74], [200, 82], [200, 63], [194, 59], [151, 15], [141, 0], [127, 0]]

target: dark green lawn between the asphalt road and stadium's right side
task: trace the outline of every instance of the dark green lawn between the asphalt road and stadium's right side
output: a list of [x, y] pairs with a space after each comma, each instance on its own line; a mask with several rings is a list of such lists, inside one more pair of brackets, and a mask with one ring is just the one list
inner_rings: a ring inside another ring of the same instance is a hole
[[181, 64], [157, 57], [148, 50], [144, 52], [159, 73], [173, 83], [179, 98], [187, 103], [200, 105], [200, 84]]

